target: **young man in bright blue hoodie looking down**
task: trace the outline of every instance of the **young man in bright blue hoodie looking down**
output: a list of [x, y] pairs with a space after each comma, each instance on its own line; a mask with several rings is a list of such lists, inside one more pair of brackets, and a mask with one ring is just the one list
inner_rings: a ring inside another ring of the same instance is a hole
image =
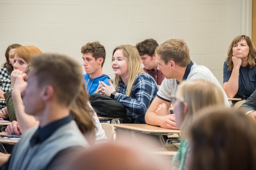
[[108, 75], [102, 74], [102, 67], [106, 58], [106, 51], [100, 42], [88, 42], [81, 48], [83, 54], [83, 66], [86, 74], [84, 81], [89, 95], [95, 93], [99, 86], [99, 81], [109, 85]]

